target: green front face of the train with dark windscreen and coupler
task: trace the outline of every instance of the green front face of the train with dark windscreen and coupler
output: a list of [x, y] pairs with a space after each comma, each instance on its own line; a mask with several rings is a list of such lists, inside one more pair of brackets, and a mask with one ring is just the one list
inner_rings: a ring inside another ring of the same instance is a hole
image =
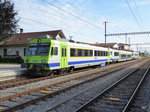
[[30, 75], [47, 76], [50, 74], [48, 66], [50, 45], [50, 39], [34, 39], [29, 42], [24, 64]]

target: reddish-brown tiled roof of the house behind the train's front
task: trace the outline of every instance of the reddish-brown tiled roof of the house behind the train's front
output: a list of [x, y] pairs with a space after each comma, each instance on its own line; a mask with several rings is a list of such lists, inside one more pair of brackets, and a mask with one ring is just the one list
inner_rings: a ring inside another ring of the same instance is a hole
[[60, 32], [63, 35], [63, 32], [61, 30], [45, 31], [45, 32], [18, 33], [18, 34], [12, 35], [7, 40], [1, 41], [0, 45], [25, 45], [25, 44], [28, 44], [29, 38], [37, 39], [37, 38], [40, 38], [41, 35], [50, 35], [53, 38], [56, 38], [56, 36]]

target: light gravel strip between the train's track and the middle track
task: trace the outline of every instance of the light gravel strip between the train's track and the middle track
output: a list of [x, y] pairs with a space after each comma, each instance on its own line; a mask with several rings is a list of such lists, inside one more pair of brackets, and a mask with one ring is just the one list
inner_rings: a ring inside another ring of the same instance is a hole
[[75, 77], [78, 77], [79, 75], [84, 76], [84, 75], [89, 74], [89, 73], [94, 73], [94, 72], [97, 72], [97, 71], [106, 70], [106, 69], [111, 68], [112, 66], [117, 66], [119, 64], [121, 65], [121, 64], [125, 64], [125, 63], [131, 63], [131, 62], [123, 62], [123, 63], [113, 64], [113, 65], [106, 66], [106, 67], [101, 68], [101, 69], [97, 68], [97, 69], [93, 69], [93, 70], [86, 71], [86, 72], [80, 72], [80, 73], [75, 73], [75, 74], [71, 74], [71, 75], [60, 76], [60, 77], [53, 78], [53, 79], [47, 79], [47, 80], [42, 80], [42, 81], [38, 81], [38, 82], [34, 82], [34, 83], [24, 84], [24, 85], [12, 87], [12, 88], [7, 88], [7, 89], [4, 89], [4, 90], [0, 90], [0, 98], [7, 97], [7, 96], [10, 96], [10, 95], [15, 95], [17, 93], [21, 93], [21, 92], [25, 92], [25, 91], [28, 91], [28, 90], [36, 89], [36, 88], [43, 87], [43, 86], [46, 86], [46, 85], [50, 85], [50, 84], [53, 84], [53, 83], [57, 83], [57, 82], [60, 82], [60, 81], [64, 81], [66, 79], [75, 78]]

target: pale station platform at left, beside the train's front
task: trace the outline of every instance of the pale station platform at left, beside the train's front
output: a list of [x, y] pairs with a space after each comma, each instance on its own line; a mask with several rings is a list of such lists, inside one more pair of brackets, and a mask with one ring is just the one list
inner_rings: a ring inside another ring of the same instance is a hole
[[26, 73], [20, 64], [0, 64], [0, 81], [22, 76]]

